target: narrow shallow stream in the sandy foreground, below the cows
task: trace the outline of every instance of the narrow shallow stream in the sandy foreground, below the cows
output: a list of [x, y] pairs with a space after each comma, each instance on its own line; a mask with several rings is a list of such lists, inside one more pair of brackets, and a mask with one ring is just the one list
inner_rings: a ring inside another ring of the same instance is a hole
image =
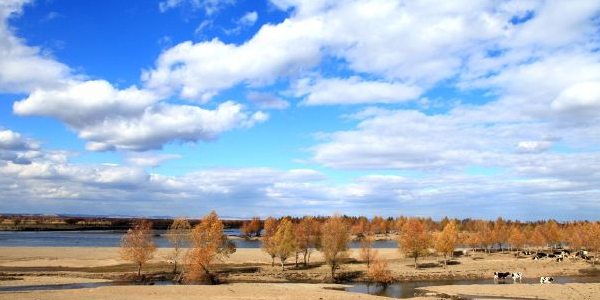
[[[600, 277], [588, 277], [588, 276], [564, 276], [554, 277], [552, 284], [561, 283], [598, 283]], [[540, 278], [524, 278], [523, 283], [540, 284]], [[357, 283], [353, 284], [352, 287], [346, 289], [348, 292], [371, 294], [377, 296], [391, 297], [391, 298], [411, 298], [415, 294], [419, 294], [417, 288], [436, 286], [436, 285], [471, 285], [471, 284], [496, 284], [493, 279], [475, 279], [475, 280], [427, 280], [427, 281], [406, 281], [397, 282], [390, 284], [387, 287], [379, 285]], [[512, 279], [506, 280], [506, 282], [499, 282], [498, 284], [513, 284]], [[517, 283], [519, 284], [519, 283]]]

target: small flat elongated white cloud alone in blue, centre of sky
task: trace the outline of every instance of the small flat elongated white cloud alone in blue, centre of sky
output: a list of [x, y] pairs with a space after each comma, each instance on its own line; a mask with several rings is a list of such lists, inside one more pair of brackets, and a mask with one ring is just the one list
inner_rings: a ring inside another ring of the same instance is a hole
[[414, 100], [422, 90], [402, 83], [347, 79], [301, 79], [294, 87], [295, 96], [306, 95], [304, 105], [398, 103]]

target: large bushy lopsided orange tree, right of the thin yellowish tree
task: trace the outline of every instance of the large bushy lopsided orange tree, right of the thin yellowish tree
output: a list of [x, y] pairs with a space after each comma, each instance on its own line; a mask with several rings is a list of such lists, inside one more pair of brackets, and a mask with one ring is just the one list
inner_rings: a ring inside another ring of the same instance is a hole
[[213, 264], [235, 252], [235, 244], [223, 234], [223, 222], [215, 211], [206, 215], [192, 229], [191, 248], [186, 255], [188, 281], [215, 282], [210, 273]]

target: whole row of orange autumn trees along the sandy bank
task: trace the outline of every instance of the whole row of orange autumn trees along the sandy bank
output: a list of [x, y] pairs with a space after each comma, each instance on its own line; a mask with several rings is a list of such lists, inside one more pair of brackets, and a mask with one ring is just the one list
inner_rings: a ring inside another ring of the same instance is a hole
[[[140, 222], [145, 224], [142, 226], [144, 229], [139, 229], [141, 225], [136, 223], [122, 241], [122, 257], [139, 265], [138, 274], [143, 263], [151, 258], [144, 253], [155, 250], [151, 223]], [[223, 222], [215, 212], [196, 225], [184, 219], [175, 220], [167, 231], [167, 238], [174, 248], [170, 256], [175, 266], [174, 273], [178, 273], [178, 261], [182, 258], [182, 280], [209, 278], [213, 282], [214, 261], [235, 252], [235, 245], [227, 240], [223, 228]], [[242, 223], [241, 228], [247, 237], [260, 236], [262, 250], [271, 257], [271, 266], [277, 259], [282, 271], [289, 260], [294, 260], [295, 267], [300, 263], [309, 266], [311, 253], [321, 252], [330, 268], [331, 280], [336, 279], [336, 270], [348, 261], [348, 245], [352, 239], [360, 241], [359, 256], [367, 265], [369, 278], [376, 282], [393, 280], [386, 262], [378, 259], [377, 250], [373, 248], [378, 235], [379, 238], [396, 239], [400, 253], [414, 258], [415, 268], [418, 268], [419, 258], [432, 255], [442, 255], [445, 267], [457, 247], [488, 253], [559, 247], [592, 252], [600, 250], [600, 223], [588, 221], [558, 223], [554, 220], [520, 222], [502, 218], [495, 221], [444, 218], [436, 222], [430, 218], [374, 217], [369, 220], [366, 217], [336, 215], [269, 217], [264, 221], [253, 218]], [[132, 246], [136, 244], [138, 246]], [[131, 257], [128, 253], [140, 257]]]

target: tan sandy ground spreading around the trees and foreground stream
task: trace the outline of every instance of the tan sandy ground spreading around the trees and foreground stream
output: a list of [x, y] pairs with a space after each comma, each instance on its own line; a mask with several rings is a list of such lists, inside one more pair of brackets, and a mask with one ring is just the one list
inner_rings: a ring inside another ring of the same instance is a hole
[[[168, 272], [167, 262], [171, 249], [159, 249], [145, 272]], [[402, 258], [396, 249], [378, 249], [379, 257], [388, 262], [393, 274], [403, 280], [489, 278], [494, 271], [522, 272], [526, 278], [539, 276], [580, 275], [589, 265], [581, 260], [534, 261], [516, 259], [512, 254], [478, 254], [460, 257], [456, 264], [443, 267], [441, 258], [419, 260], [422, 268], [415, 270], [413, 260]], [[357, 259], [356, 250], [350, 256]], [[271, 258], [260, 249], [238, 249], [218, 268], [225, 273], [220, 277], [229, 282], [218, 286], [105, 286], [88, 289], [0, 292], [0, 299], [385, 299], [340, 290], [323, 284], [289, 283], [322, 282], [329, 269], [322, 264], [320, 253], [312, 255], [310, 268], [294, 268], [288, 260], [286, 270], [271, 266]], [[355, 274], [355, 280], [364, 279], [365, 264], [345, 264], [340, 274]], [[60, 248], [60, 247], [0, 247], [0, 289], [6, 286], [52, 285], [98, 282], [115, 279], [124, 273], [136, 271], [135, 266], [119, 258], [118, 248]], [[22, 280], [11, 280], [21, 278]], [[254, 282], [254, 283], [249, 283]], [[339, 288], [339, 286], [337, 286]], [[596, 299], [600, 284], [554, 285], [473, 285], [427, 288], [435, 293], [469, 295], [477, 299], [512, 299], [539, 297], [540, 299]], [[495, 298], [489, 298], [494, 296]], [[501, 297], [505, 298], [501, 298]], [[487, 298], [486, 298], [487, 297]], [[587, 297], [587, 298], [586, 298]], [[439, 297], [427, 298], [438, 299]], [[531, 298], [531, 299], [534, 299]]]

